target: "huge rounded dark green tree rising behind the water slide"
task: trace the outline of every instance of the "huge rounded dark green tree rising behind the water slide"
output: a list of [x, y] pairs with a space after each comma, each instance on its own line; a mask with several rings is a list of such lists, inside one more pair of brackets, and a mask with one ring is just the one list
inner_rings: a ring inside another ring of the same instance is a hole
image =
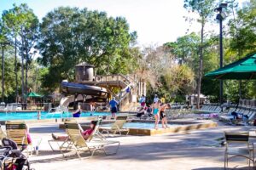
[[129, 48], [137, 37], [125, 18], [87, 8], [56, 8], [43, 18], [40, 31], [39, 61], [49, 67], [43, 84], [52, 89], [63, 79], [73, 80], [74, 65], [81, 61], [95, 65], [98, 73], [119, 71], [118, 64], [133, 59]]

